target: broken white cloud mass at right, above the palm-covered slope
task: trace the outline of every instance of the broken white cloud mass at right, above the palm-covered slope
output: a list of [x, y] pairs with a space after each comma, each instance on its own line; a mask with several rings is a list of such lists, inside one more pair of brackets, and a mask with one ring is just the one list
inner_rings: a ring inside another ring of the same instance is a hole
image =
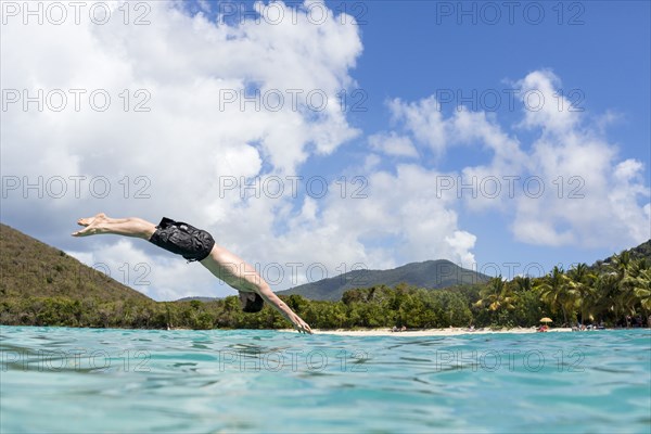
[[[523, 117], [510, 126], [494, 114], [465, 108], [446, 117], [433, 95], [416, 102], [394, 99], [390, 110], [396, 130], [436, 156], [455, 145], [492, 154], [459, 174], [439, 175], [434, 186], [459, 200], [449, 209], [499, 209], [512, 219], [515, 239], [532, 244], [625, 248], [646, 241], [651, 233], [649, 205], [640, 204], [649, 197], [642, 163], [622, 162], [618, 148], [605, 138], [604, 117], [591, 123], [560, 86], [551, 71], [519, 80]], [[605, 115], [614, 118], [611, 112]], [[522, 130], [534, 138], [531, 143], [516, 138]]]

